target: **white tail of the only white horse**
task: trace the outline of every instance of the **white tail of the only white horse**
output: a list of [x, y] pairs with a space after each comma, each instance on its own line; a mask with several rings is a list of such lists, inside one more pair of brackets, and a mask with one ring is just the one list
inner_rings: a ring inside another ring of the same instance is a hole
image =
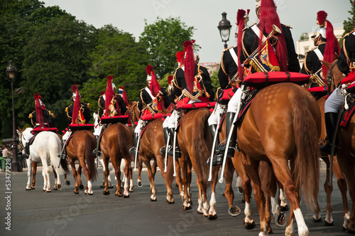
[[[62, 166], [61, 159], [58, 157], [60, 154], [60, 139], [57, 134], [53, 132], [48, 132], [48, 152], [50, 156], [50, 164], [54, 166], [55, 171], [57, 171], [58, 175], [62, 176], [69, 171], [68, 167], [66, 167], [67, 171], [65, 171], [65, 167]], [[59, 166], [59, 168], [58, 168]]]

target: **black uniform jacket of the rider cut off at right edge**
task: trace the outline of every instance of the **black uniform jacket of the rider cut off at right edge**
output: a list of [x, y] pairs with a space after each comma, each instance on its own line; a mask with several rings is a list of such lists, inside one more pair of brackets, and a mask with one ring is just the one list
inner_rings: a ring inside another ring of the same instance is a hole
[[[348, 75], [350, 72], [349, 63], [355, 62], [355, 36], [353, 33], [346, 34], [343, 38], [344, 45], [342, 47], [342, 52], [338, 58], [337, 66], [342, 73]], [[344, 49], [345, 48], [345, 49]], [[350, 62], [346, 60], [346, 54], [349, 57]]]

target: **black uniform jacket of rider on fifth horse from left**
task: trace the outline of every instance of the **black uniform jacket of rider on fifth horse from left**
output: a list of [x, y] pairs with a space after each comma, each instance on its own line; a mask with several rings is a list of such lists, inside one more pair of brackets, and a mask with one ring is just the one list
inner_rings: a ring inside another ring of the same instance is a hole
[[[211, 77], [209, 77], [209, 73], [207, 68], [200, 66], [200, 70], [202, 71], [202, 82], [204, 88], [210, 95], [209, 100], [214, 100], [214, 91], [212, 87]], [[198, 74], [198, 65], [195, 65], [195, 75]], [[203, 88], [202, 82], [200, 82], [201, 87]], [[185, 81], [185, 72], [182, 68], [178, 68], [175, 70], [175, 74], [173, 77], [173, 90], [171, 90], [170, 94], [170, 101], [175, 100], [176, 97], [180, 97], [182, 90], [186, 88], [186, 81]]]

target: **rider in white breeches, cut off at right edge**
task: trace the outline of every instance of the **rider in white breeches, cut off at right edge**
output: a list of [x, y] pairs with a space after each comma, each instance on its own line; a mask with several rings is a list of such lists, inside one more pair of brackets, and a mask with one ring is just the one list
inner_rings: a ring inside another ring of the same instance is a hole
[[[327, 25], [328, 25], [327, 21]], [[343, 38], [343, 47], [339, 55], [337, 66], [344, 75], [349, 75], [354, 70], [355, 61], [355, 29], [346, 33]], [[332, 151], [332, 141], [334, 138], [334, 129], [337, 124], [338, 111], [344, 102], [344, 96], [341, 94], [339, 86], [332, 92], [324, 103], [324, 121], [327, 131], [327, 143], [320, 146], [320, 151], [330, 155]], [[337, 144], [336, 144], [337, 146]]]

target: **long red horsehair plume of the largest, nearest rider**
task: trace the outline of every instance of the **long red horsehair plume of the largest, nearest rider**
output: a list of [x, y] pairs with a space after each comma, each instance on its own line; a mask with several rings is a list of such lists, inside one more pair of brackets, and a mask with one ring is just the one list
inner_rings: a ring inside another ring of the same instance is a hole
[[[263, 0], [260, 6], [260, 36], [259, 45], [261, 45], [263, 40], [263, 33], [271, 33], [273, 31], [273, 25], [278, 26], [282, 31], [282, 26], [280, 23], [280, 18], [276, 12], [275, 2], [273, 0]], [[288, 50], [286, 47], [285, 36], [283, 32], [276, 35], [278, 37], [278, 43], [275, 45], [276, 57], [278, 58], [278, 63], [280, 64], [281, 71], [288, 71]], [[260, 53], [260, 50], [259, 50]]]

